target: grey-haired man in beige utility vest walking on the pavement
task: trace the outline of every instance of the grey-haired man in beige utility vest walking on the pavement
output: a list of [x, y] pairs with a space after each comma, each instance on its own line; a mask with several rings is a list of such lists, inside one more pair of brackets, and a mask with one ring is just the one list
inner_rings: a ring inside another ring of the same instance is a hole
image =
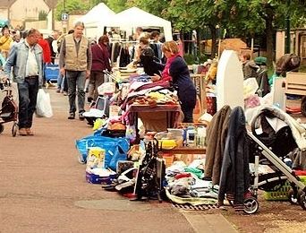
[[84, 120], [85, 81], [89, 78], [92, 55], [89, 39], [83, 36], [84, 23], [76, 22], [72, 34], [64, 37], [59, 56], [60, 73], [68, 82], [69, 116], [75, 118], [76, 91], [78, 91], [79, 119]]

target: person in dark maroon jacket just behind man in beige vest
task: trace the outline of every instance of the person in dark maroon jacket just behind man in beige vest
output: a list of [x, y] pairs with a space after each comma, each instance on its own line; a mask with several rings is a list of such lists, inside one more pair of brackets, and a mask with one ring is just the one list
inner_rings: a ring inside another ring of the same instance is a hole
[[98, 44], [91, 47], [92, 65], [89, 77], [89, 97], [87, 98], [89, 102], [96, 101], [98, 98], [98, 86], [104, 82], [103, 71], [111, 71], [108, 42], [108, 37], [103, 35], [98, 39]]

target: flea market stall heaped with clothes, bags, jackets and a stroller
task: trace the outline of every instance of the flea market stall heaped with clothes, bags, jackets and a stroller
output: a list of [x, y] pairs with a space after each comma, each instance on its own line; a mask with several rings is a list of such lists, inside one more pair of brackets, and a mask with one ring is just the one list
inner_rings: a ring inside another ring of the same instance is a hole
[[136, 201], [251, 214], [264, 190], [266, 200], [306, 209], [305, 125], [276, 107], [273, 92], [259, 95], [255, 79], [243, 80], [234, 51], [212, 63], [191, 73], [200, 117], [188, 124], [171, 83], [152, 82], [139, 67], [106, 72], [84, 113], [94, 133], [76, 142], [86, 180]]

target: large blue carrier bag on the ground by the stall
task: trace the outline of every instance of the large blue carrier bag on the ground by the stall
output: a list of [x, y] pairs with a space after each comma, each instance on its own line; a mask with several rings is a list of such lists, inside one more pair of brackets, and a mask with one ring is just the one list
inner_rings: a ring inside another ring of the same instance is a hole
[[91, 134], [77, 140], [76, 147], [81, 154], [83, 162], [86, 162], [90, 147], [100, 147], [106, 150], [105, 168], [116, 170], [119, 160], [127, 160], [127, 151], [130, 149], [130, 143], [125, 138], [110, 138]]

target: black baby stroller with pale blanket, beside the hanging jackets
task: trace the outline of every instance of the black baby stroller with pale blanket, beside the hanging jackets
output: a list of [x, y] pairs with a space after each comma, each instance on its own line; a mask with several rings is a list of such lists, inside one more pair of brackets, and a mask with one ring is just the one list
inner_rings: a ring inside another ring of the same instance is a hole
[[[254, 163], [251, 173], [251, 194], [257, 198], [258, 189], [277, 191], [289, 181], [292, 189], [288, 194], [290, 203], [299, 203], [306, 210], [306, 186], [296, 176], [285, 159], [295, 148], [305, 150], [306, 140], [299, 134], [306, 134], [306, 128], [298, 124], [292, 116], [275, 107], [263, 106], [253, 116], [250, 139], [250, 162]], [[259, 164], [268, 165], [274, 172], [259, 175]], [[256, 212], [259, 203], [255, 199], [244, 202], [247, 213]]]

